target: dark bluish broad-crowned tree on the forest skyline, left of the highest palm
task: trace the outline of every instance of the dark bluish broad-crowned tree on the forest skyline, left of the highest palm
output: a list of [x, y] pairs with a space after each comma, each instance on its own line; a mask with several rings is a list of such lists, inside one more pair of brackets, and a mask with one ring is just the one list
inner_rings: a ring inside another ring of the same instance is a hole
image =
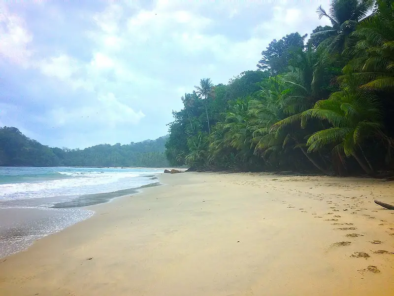
[[280, 40], [273, 39], [267, 49], [262, 52], [263, 58], [257, 67], [262, 71], [268, 71], [271, 76], [286, 72], [294, 51], [304, 47], [306, 37], [307, 34], [300, 36], [296, 32]]

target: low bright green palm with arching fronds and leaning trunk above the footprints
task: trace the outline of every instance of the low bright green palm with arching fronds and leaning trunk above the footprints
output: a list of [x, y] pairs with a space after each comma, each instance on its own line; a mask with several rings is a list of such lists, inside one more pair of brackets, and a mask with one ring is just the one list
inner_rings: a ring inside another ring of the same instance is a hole
[[[373, 175], [373, 168], [364, 156], [362, 144], [370, 137], [384, 137], [380, 130], [380, 109], [379, 101], [372, 95], [350, 87], [333, 93], [328, 100], [318, 101], [312, 109], [303, 112], [302, 116], [327, 120], [331, 127], [308, 138], [308, 152], [331, 147], [340, 159], [343, 154], [353, 156], [368, 175]], [[359, 155], [360, 152], [364, 160]]]

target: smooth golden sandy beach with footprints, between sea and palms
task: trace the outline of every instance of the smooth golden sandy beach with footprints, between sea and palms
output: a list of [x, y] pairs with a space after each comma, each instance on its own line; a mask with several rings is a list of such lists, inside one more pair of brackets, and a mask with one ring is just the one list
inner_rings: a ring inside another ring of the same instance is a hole
[[1, 296], [394, 295], [394, 183], [163, 174], [0, 259]]

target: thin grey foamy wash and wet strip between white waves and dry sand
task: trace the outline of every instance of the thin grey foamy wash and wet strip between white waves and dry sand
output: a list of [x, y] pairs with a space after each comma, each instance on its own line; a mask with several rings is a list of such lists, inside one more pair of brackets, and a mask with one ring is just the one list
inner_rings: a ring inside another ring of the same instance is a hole
[[[151, 180], [159, 180], [157, 176]], [[110, 203], [117, 198], [141, 193], [142, 189], [160, 186], [160, 182], [113, 192], [85, 194], [54, 203], [51, 207], [16, 206], [0, 208], [0, 261], [29, 249], [35, 241], [56, 234], [66, 228], [92, 218], [96, 205]], [[54, 224], [48, 226], [46, 224]]]

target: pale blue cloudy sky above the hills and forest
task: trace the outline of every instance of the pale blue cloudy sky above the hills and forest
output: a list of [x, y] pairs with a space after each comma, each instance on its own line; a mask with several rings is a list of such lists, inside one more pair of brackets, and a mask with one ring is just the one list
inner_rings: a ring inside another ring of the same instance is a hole
[[50, 147], [168, 133], [201, 78], [256, 70], [329, 0], [0, 0], [0, 126]]

